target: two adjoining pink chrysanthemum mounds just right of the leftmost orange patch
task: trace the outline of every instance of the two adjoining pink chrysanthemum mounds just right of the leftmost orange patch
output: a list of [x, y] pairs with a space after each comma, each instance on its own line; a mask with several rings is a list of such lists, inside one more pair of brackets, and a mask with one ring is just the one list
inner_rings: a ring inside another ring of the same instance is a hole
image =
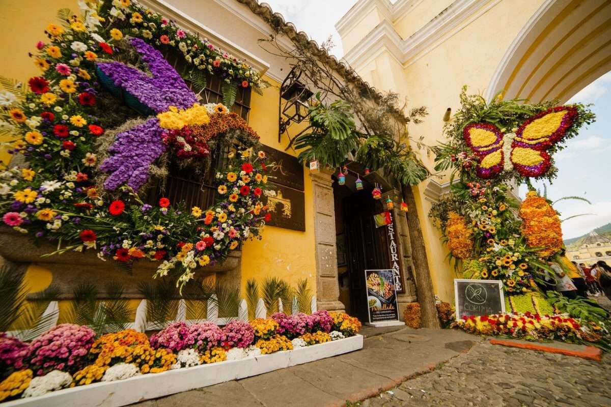
[[191, 326], [185, 322], [174, 322], [150, 337], [153, 348], [168, 348], [174, 352], [196, 348], [208, 350], [225, 340], [221, 328], [213, 322], [196, 322]]

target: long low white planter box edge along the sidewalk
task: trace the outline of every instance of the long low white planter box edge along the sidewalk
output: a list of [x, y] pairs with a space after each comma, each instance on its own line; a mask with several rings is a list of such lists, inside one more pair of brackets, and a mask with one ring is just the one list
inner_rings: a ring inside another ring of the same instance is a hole
[[148, 373], [126, 380], [93, 383], [50, 392], [39, 397], [28, 397], [2, 403], [2, 407], [119, 407], [163, 397], [191, 389], [211, 386], [224, 381], [243, 379], [272, 370], [341, 355], [363, 347], [362, 335], [334, 340], [295, 350], [238, 361]]

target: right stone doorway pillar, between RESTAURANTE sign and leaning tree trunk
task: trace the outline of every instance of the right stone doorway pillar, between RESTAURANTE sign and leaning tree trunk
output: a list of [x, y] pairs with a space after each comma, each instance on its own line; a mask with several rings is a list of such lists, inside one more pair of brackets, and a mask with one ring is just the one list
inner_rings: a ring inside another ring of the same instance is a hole
[[[409, 245], [408, 220], [403, 212], [401, 212], [401, 193], [396, 190], [390, 190], [382, 193], [382, 203], [386, 203], [386, 199], [390, 197], [395, 207], [392, 209], [392, 220], [395, 224], [395, 240], [397, 240], [399, 258], [401, 259], [401, 270], [403, 270], [403, 287], [404, 294], [397, 294], [397, 304], [399, 306], [399, 319], [403, 320], [403, 311], [407, 308], [408, 303], [413, 303], [417, 300], [414, 274], [412, 273], [411, 247]], [[415, 208], [409, 208], [415, 211]]]

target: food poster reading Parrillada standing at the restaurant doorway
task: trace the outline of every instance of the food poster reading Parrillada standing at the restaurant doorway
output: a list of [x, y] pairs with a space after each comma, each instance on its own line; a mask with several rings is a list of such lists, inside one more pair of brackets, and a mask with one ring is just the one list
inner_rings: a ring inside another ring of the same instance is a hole
[[369, 322], [398, 321], [397, 292], [393, 271], [365, 270]]

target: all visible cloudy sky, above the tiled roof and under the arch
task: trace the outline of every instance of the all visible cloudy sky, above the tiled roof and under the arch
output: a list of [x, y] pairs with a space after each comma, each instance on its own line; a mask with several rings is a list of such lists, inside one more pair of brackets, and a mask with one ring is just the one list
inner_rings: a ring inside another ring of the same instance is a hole
[[[265, 0], [285, 20], [305, 31], [319, 45], [332, 35], [331, 54], [343, 56], [342, 41], [335, 31], [335, 23], [348, 12], [356, 0]], [[324, 11], [323, 11], [324, 10]], [[456, 90], [459, 92], [459, 90]], [[555, 201], [563, 196], [582, 196], [582, 201], [565, 200], [554, 205], [562, 219], [577, 214], [593, 214], [562, 223], [565, 239], [578, 237], [598, 226], [611, 222], [611, 72], [607, 73], [568, 101], [593, 104], [596, 122], [582, 128], [579, 135], [566, 143], [566, 148], [555, 156], [558, 177], [547, 185], [547, 197]], [[542, 184], [535, 184], [543, 190]], [[524, 197], [522, 185], [520, 195]]]

